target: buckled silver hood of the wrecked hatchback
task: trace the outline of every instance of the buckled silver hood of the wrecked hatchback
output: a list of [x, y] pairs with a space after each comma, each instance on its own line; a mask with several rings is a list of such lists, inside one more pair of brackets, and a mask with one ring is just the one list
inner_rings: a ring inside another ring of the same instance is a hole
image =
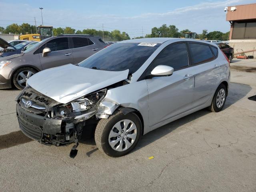
[[66, 104], [126, 79], [128, 72], [129, 70], [104, 71], [67, 64], [38, 72], [27, 82], [38, 92]]

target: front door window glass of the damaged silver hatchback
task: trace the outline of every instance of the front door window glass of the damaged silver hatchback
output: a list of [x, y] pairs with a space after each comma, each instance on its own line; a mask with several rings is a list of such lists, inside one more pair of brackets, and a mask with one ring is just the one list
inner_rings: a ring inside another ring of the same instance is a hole
[[188, 66], [188, 52], [185, 43], [170, 44], [156, 56], [151, 70], [158, 65], [167, 65], [179, 70]]

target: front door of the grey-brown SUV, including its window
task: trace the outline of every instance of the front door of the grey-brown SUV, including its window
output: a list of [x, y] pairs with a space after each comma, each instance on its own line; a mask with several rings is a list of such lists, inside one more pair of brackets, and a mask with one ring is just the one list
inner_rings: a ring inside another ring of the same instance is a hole
[[[46, 57], [42, 56], [44, 48], [50, 48], [51, 52]], [[54, 38], [38, 49], [43, 70], [66, 64], [73, 64], [72, 50], [69, 48], [68, 37]]]

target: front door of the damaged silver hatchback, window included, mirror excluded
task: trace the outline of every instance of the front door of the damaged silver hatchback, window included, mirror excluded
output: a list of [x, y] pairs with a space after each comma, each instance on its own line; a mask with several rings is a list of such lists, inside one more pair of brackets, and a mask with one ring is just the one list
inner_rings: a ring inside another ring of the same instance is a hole
[[190, 110], [194, 94], [194, 71], [189, 67], [185, 42], [166, 46], [147, 72], [158, 65], [171, 66], [174, 72], [171, 76], [146, 80], [150, 126]]

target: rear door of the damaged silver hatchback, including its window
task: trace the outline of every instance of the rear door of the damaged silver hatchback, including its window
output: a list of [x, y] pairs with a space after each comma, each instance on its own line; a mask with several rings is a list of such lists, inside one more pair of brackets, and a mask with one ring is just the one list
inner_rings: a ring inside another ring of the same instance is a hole
[[193, 108], [206, 103], [218, 84], [220, 64], [214, 54], [216, 48], [213, 51], [212, 47], [204, 43], [189, 42], [192, 68], [195, 72]]

